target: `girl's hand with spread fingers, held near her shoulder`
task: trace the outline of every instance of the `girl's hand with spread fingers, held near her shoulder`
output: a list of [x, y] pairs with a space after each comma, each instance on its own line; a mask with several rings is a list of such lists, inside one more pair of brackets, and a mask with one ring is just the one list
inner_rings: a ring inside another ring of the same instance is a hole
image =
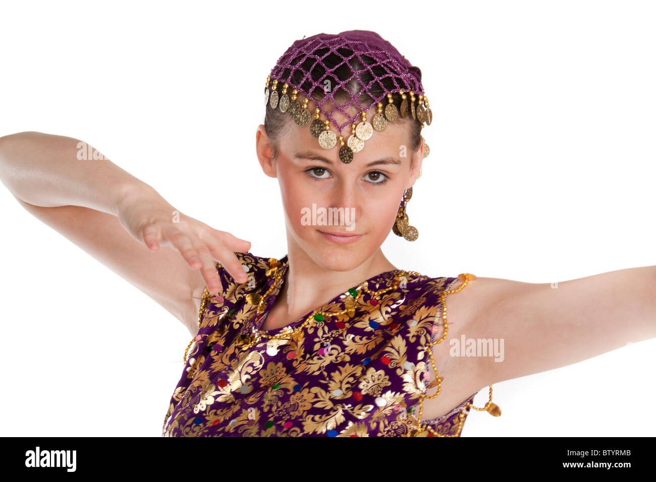
[[118, 218], [121, 226], [151, 251], [164, 245], [180, 252], [191, 268], [201, 270], [211, 294], [216, 294], [220, 286], [215, 260], [220, 261], [237, 282], [248, 281], [235, 252], [248, 252], [249, 241], [182, 214], [150, 186], [123, 196]]

